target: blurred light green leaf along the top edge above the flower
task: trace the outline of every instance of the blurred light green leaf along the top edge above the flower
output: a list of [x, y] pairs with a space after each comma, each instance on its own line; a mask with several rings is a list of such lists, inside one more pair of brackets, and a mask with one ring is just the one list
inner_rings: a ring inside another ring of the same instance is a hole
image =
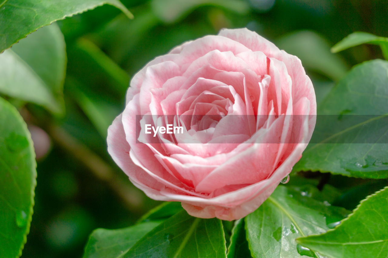
[[241, 0], [152, 0], [151, 7], [161, 21], [173, 23], [202, 5], [223, 7], [239, 14], [249, 12], [249, 4]]

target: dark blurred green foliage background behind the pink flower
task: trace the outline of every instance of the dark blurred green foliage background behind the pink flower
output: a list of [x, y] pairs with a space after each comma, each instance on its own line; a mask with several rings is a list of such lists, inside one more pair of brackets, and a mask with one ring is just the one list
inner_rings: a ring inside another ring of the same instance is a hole
[[[124, 108], [130, 78], [154, 57], [221, 28], [246, 27], [302, 60], [319, 102], [353, 65], [381, 58], [378, 46], [337, 54], [330, 52], [331, 46], [354, 31], [388, 36], [386, 0], [121, 2], [135, 19], [104, 5], [57, 22], [68, 55], [66, 115], [52, 117], [30, 104], [21, 112], [41, 156], [22, 257], [81, 257], [92, 230], [132, 225], [158, 205], [132, 186], [106, 150], [106, 130]], [[341, 176], [325, 179], [318, 173], [298, 176], [319, 177], [321, 183], [338, 187], [343, 195], [336, 205], [350, 210], [386, 184]], [[289, 183], [293, 181], [297, 176]]]

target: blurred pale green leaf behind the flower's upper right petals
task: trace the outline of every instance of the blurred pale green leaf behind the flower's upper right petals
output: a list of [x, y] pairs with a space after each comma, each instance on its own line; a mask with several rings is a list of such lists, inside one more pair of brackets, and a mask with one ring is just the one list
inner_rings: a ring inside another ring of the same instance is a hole
[[296, 55], [303, 67], [338, 81], [349, 70], [348, 64], [330, 52], [330, 44], [314, 31], [296, 31], [276, 41], [280, 49]]

